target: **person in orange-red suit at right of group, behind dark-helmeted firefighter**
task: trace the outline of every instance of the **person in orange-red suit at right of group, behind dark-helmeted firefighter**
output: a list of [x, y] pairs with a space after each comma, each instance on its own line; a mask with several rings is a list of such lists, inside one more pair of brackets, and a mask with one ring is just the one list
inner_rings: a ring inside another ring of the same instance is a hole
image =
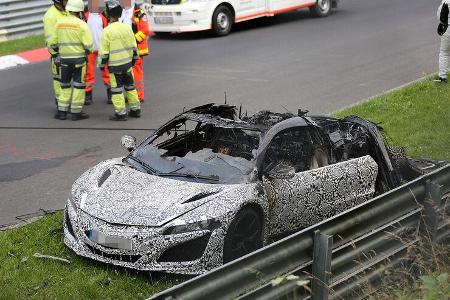
[[144, 56], [149, 54], [148, 48], [148, 38], [150, 35], [150, 27], [148, 24], [148, 18], [145, 11], [141, 9], [141, 5], [144, 0], [135, 0], [133, 20], [131, 26], [133, 28], [134, 37], [136, 38], [136, 43], [138, 45], [139, 59], [136, 61], [133, 67], [134, 81], [136, 85], [136, 90], [138, 92], [139, 101], [144, 102], [145, 91], [144, 91], [144, 69], [143, 61]]

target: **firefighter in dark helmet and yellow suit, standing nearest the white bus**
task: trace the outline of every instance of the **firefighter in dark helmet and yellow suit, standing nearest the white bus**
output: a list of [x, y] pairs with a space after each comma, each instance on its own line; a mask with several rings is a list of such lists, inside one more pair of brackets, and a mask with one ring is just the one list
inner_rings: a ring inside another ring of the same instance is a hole
[[108, 65], [112, 102], [115, 113], [110, 117], [113, 121], [126, 121], [127, 109], [122, 88], [130, 106], [129, 116], [139, 118], [141, 105], [138, 99], [132, 67], [139, 59], [136, 40], [130, 26], [119, 22], [122, 15], [122, 7], [118, 1], [111, 0], [107, 3], [109, 25], [103, 30], [100, 40], [100, 69]]

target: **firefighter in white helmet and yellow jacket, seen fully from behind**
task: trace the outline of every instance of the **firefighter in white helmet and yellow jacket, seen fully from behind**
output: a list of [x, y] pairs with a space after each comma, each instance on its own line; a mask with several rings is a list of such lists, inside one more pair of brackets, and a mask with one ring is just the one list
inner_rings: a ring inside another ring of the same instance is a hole
[[55, 115], [60, 120], [66, 119], [69, 108], [73, 121], [89, 118], [82, 109], [86, 56], [93, 50], [93, 40], [89, 27], [81, 20], [83, 10], [83, 0], [67, 1], [67, 15], [56, 23], [56, 34], [50, 43], [53, 55], [58, 55], [61, 60], [61, 95]]

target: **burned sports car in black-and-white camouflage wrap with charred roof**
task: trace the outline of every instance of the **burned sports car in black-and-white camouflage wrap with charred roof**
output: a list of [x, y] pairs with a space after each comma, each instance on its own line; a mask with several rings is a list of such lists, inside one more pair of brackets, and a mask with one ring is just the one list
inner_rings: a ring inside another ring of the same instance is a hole
[[64, 241], [139, 270], [200, 274], [439, 166], [358, 118], [208, 104], [74, 183]]

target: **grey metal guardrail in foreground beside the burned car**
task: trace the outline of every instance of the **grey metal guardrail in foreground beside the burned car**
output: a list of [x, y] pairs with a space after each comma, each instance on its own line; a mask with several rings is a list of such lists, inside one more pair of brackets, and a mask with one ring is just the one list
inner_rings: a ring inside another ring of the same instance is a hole
[[449, 237], [447, 165], [150, 299], [365, 298], [421, 239]]

